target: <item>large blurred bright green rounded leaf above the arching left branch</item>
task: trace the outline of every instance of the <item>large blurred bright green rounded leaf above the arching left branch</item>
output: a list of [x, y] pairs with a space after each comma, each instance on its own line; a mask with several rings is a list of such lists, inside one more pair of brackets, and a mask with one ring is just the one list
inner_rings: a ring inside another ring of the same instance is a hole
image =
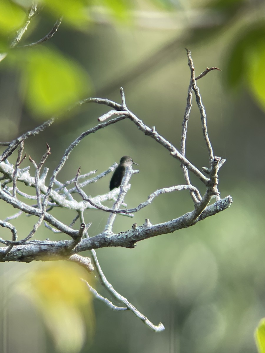
[[[88, 74], [73, 60], [59, 52], [38, 47], [29, 50], [22, 64], [21, 91], [37, 118], [61, 113], [88, 95]], [[20, 56], [21, 57], [21, 56]]]

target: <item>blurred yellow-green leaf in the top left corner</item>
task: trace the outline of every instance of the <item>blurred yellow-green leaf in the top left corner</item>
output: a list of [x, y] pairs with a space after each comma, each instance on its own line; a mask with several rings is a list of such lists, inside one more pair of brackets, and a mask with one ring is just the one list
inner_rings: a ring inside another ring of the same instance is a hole
[[8, 0], [0, 1], [0, 33], [6, 35], [22, 25], [25, 12], [21, 7]]

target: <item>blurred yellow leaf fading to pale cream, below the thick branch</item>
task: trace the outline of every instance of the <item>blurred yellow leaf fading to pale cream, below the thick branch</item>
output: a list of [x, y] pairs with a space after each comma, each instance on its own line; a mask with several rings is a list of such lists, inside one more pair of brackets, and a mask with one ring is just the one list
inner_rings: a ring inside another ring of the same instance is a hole
[[[94, 331], [92, 294], [81, 278], [92, 276], [69, 262], [44, 264], [26, 276], [20, 289], [39, 310], [59, 352], [77, 353]], [[87, 325], [86, 325], [87, 323]]]

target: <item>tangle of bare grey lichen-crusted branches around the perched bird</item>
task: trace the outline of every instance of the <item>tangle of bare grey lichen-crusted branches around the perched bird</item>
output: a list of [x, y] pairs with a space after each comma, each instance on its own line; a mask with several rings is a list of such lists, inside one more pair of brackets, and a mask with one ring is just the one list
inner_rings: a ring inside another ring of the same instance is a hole
[[[33, 13], [34, 10], [36, 9], [31, 9]], [[32, 13], [30, 13], [30, 16], [33, 16]], [[55, 27], [51, 32], [54, 33], [57, 30], [60, 21], [61, 19], [56, 22]], [[25, 140], [27, 140], [30, 136], [34, 136], [36, 134], [41, 133], [43, 130], [49, 127], [56, 118], [44, 122], [42, 125], [36, 127], [34, 130], [24, 133], [22, 136], [14, 139], [11, 142], [1, 143], [1, 145], [5, 145], [7, 146], [7, 148], [0, 157], [0, 173], [2, 174], [0, 199], [12, 205], [14, 208], [18, 209], [18, 212], [16, 214], [7, 217], [7, 219], [5, 220], [0, 220], [0, 226], [10, 229], [12, 234], [12, 240], [0, 238], [0, 243], [5, 245], [0, 248], [1, 262], [31, 262], [38, 260], [52, 261], [57, 259], [65, 259], [66, 261], [76, 262], [86, 268], [89, 272], [96, 271], [96, 273], [100, 277], [102, 286], [104, 286], [108, 290], [108, 292], [110, 292], [112, 298], [115, 298], [119, 301], [120, 306], [116, 306], [107, 298], [102, 297], [102, 295], [96, 292], [96, 290], [92, 288], [89, 283], [86, 282], [89, 290], [94, 294], [95, 298], [103, 301], [112, 310], [132, 311], [139, 319], [141, 319], [148, 327], [150, 327], [154, 331], [164, 330], [164, 325], [162, 323], [154, 325], [152, 322], [149, 321], [147, 317], [145, 317], [132, 304], [130, 304], [126, 298], [124, 298], [121, 294], [115, 291], [115, 289], [107, 281], [104, 273], [101, 270], [98, 259], [96, 257], [95, 249], [107, 246], [133, 248], [135, 247], [136, 243], [140, 240], [155, 237], [161, 234], [172, 233], [177, 231], [178, 229], [193, 226], [198, 221], [204, 220], [206, 217], [213, 216], [219, 213], [220, 211], [229, 208], [232, 203], [232, 198], [230, 196], [221, 199], [219, 191], [217, 189], [217, 173], [219, 168], [225, 162], [225, 160], [213, 155], [211, 142], [207, 133], [206, 113], [201, 101], [198, 86], [196, 85], [197, 79], [205, 76], [211, 70], [219, 69], [216, 67], [207, 68], [203, 73], [200, 74], [200, 76], [195, 78], [193, 61], [189, 50], [187, 50], [187, 55], [188, 64], [191, 71], [191, 78], [188, 88], [187, 106], [185, 109], [184, 120], [182, 124], [180, 151], [178, 151], [175, 146], [173, 146], [164, 137], [162, 137], [155, 130], [155, 127], [146, 126], [142, 120], [140, 120], [139, 118], [137, 118], [136, 115], [130, 112], [130, 110], [126, 107], [125, 96], [122, 88], [120, 89], [122, 100], [121, 104], [110, 101], [108, 99], [87, 98], [83, 101], [77, 102], [75, 106], [70, 108], [73, 109], [77, 106], [81, 106], [86, 103], [97, 103], [105, 104], [111, 110], [109, 110], [109, 112], [98, 118], [98, 125], [83, 132], [76, 140], [71, 143], [71, 145], [66, 149], [60, 162], [58, 163], [58, 166], [54, 169], [51, 179], [47, 183], [46, 177], [48, 169], [44, 167], [44, 164], [49, 154], [51, 153], [48, 145], [46, 146], [46, 152], [43, 154], [39, 164], [37, 164], [34, 160], [30, 158], [30, 162], [35, 168], [34, 177], [31, 176], [29, 173], [30, 167], [20, 169], [20, 164], [25, 159], [23, 157]], [[209, 156], [209, 166], [202, 168], [204, 173], [202, 173], [198, 168], [196, 168], [192, 163], [190, 163], [187, 158], [185, 158], [186, 134], [189, 113], [192, 106], [191, 100], [193, 92], [195, 94], [196, 103], [200, 111], [202, 133], [204, 135]], [[93, 170], [88, 174], [81, 175], [81, 169], [79, 168], [77, 173], [75, 173], [76, 176], [73, 177], [72, 180], [65, 181], [64, 183], [61, 183], [59, 182], [59, 180], [57, 180], [57, 175], [63, 168], [70, 153], [75, 148], [75, 146], [77, 146], [82, 141], [83, 138], [87, 137], [91, 133], [94, 133], [102, 128], [107, 128], [109, 125], [116, 124], [124, 119], [129, 119], [132, 124], [134, 124], [146, 136], [155, 139], [159, 144], [164, 146], [169, 151], [172, 158], [175, 158], [177, 162], [181, 162], [181, 167], [185, 180], [184, 185], [176, 185], [156, 190], [148, 196], [146, 201], [141, 202], [137, 207], [125, 209], [123, 208], [123, 201], [126, 192], [130, 189], [130, 184], [128, 184], [130, 177], [135, 173], [139, 173], [138, 170], [133, 170], [131, 168], [131, 165], [126, 166], [125, 174], [119, 188], [115, 188], [104, 195], [99, 195], [93, 198], [87, 196], [82, 188], [90, 183], [95, 183], [100, 178], [103, 178], [107, 174], [113, 172], [113, 170], [115, 170], [115, 168], [117, 167], [117, 163], [112, 164], [112, 166], [110, 166], [105, 172], [98, 174], [94, 177], [93, 175], [96, 174], [96, 170]], [[7, 158], [11, 156], [17, 148], [17, 161], [14, 165], [12, 165], [8, 162]], [[42, 167], [43, 171], [41, 174]], [[198, 189], [196, 189], [196, 187], [190, 184], [189, 173], [193, 173], [204, 184], [204, 195], [200, 195]], [[81, 179], [84, 180], [82, 183]], [[18, 182], [25, 184], [28, 187], [35, 188], [36, 196], [31, 196], [27, 193], [20, 191], [18, 187]], [[170, 221], [155, 225], [152, 225], [150, 221], [146, 219], [143, 225], [138, 226], [137, 224], [134, 224], [133, 227], [131, 229], [128, 229], [126, 232], [113, 233], [113, 222], [115, 221], [117, 214], [121, 214], [127, 217], [133, 217], [134, 213], [140, 211], [142, 208], [147, 207], [153, 201], [153, 199], [159, 196], [160, 194], [182, 190], [189, 190], [190, 192], [190, 196], [192, 197], [192, 200], [194, 202], [194, 209], [192, 211], [176, 219], [172, 219]], [[73, 197], [73, 195], [76, 193], [81, 195], [81, 202], [76, 201]], [[17, 195], [19, 195], [20, 198], [23, 197], [24, 202], [20, 201], [17, 198]], [[213, 197], [216, 199], [216, 202], [209, 205]], [[27, 200], [32, 199], [34, 199], [36, 203], [33, 206], [27, 203]], [[114, 200], [112, 208], [107, 208], [104, 206], [103, 203], [108, 200]], [[77, 216], [69, 226], [65, 225], [64, 223], [57, 220], [50, 213], [50, 211], [55, 207], [64, 208], [65, 211], [66, 209], [75, 210]], [[84, 222], [84, 211], [87, 209], [98, 209], [101, 212], [109, 213], [108, 221], [105, 225], [104, 231], [93, 238], [89, 238], [87, 232], [90, 223], [85, 224]], [[18, 240], [19, 234], [17, 234], [16, 228], [12, 225], [12, 223], [10, 223], [10, 221], [12, 221], [12, 219], [18, 218], [24, 213], [36, 216], [37, 222], [35, 223], [31, 232], [27, 234], [27, 236], [20, 237], [23, 239]], [[76, 222], [79, 222], [80, 224], [78, 230], [73, 229], [73, 225]], [[45, 226], [49, 229], [49, 232], [64, 233], [65, 235], [69, 236], [70, 239], [60, 241], [43, 241], [33, 239], [41, 223], [45, 224]], [[93, 265], [90, 258], [83, 257], [78, 254], [87, 250], [91, 251]]]

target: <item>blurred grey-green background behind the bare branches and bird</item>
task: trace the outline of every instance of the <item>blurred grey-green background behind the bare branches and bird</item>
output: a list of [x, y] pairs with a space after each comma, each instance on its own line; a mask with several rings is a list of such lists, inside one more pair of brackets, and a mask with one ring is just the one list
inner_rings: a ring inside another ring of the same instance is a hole
[[[19, 4], [29, 5], [24, 1]], [[49, 8], [49, 1], [45, 6]], [[98, 1], [86, 6], [87, 22], [75, 22], [66, 16], [41, 49], [14, 49], [0, 62], [0, 139], [11, 140], [49, 118], [53, 109], [62, 109], [49, 107], [49, 102], [45, 109], [43, 101], [34, 105], [36, 97], [30, 91], [38, 70], [36, 61], [35, 66], [31, 65], [34, 58], [38, 63], [42, 55], [45, 58], [47, 53], [57, 53], [57, 66], [61, 58], [66, 58], [80, 70], [77, 74], [82, 79], [78, 82], [83, 87], [74, 92], [80, 98], [95, 96], [120, 102], [122, 86], [128, 108], [179, 148], [190, 80], [186, 47], [192, 52], [196, 76], [206, 67], [222, 70], [210, 72], [198, 81], [198, 86], [214, 155], [227, 159], [219, 171], [219, 191], [221, 197], [231, 195], [233, 203], [228, 210], [194, 227], [141, 241], [135, 249], [99, 249], [100, 264], [114, 288], [153, 323], [161, 321], [165, 331], [153, 333], [133, 313], [113, 312], [91, 299], [87, 306], [82, 302], [83, 322], [70, 318], [69, 326], [64, 326], [67, 318], [63, 313], [55, 320], [65, 334], [64, 352], [257, 352], [254, 330], [265, 316], [264, 1], [117, 0], [112, 5], [110, 1]], [[42, 11], [36, 16], [21, 44], [46, 35], [55, 15]], [[5, 40], [10, 43], [14, 34], [3, 33], [2, 30], [4, 50]], [[40, 63], [40, 69], [46, 76], [45, 62]], [[47, 77], [52, 79], [48, 73]], [[75, 78], [72, 82], [76, 83]], [[55, 92], [60, 89], [58, 82]], [[76, 108], [28, 139], [25, 151], [38, 161], [47, 142], [52, 151], [47, 161], [51, 171], [69, 144], [95, 126], [98, 116], [105, 112], [106, 107], [96, 104]], [[58, 179], [73, 178], [80, 165], [82, 173], [94, 169], [100, 173], [127, 154], [140, 165], [140, 174], [133, 175], [126, 195], [128, 207], [145, 201], [157, 189], [183, 184], [179, 163], [130, 121], [121, 121], [85, 138], [72, 152]], [[198, 168], [207, 166], [195, 99], [186, 156]], [[15, 158], [12, 156], [10, 162]], [[95, 196], [107, 192], [109, 180], [108, 175], [90, 184], [86, 193]], [[192, 182], [204, 192], [198, 180], [192, 177]], [[117, 217], [114, 230], [125, 231], [133, 223], [142, 225], [146, 218], [153, 224], [168, 221], [192, 208], [187, 191], [161, 195], [136, 213], [134, 219]], [[16, 212], [3, 202], [0, 211], [1, 219]], [[56, 210], [54, 215], [66, 223], [75, 217], [69, 210]], [[104, 229], [106, 219], [101, 211], [86, 212], [86, 223], [93, 222], [90, 236]], [[25, 216], [14, 220], [20, 239], [30, 232], [35, 221]], [[10, 237], [5, 229], [1, 233], [2, 238]], [[44, 227], [36, 237], [62, 238]], [[35, 291], [39, 290], [36, 280], [42, 278], [40, 274], [46, 267], [45, 263], [1, 263], [0, 352], [53, 353], [61, 349], [56, 341], [57, 331], [47, 325], [52, 316], [45, 316], [47, 307], [43, 309], [35, 298]], [[107, 295], [97, 279], [93, 280], [98, 291]], [[44, 290], [49, 291], [47, 288]], [[80, 331], [83, 334], [78, 336]], [[79, 343], [71, 341], [71, 333]]]

